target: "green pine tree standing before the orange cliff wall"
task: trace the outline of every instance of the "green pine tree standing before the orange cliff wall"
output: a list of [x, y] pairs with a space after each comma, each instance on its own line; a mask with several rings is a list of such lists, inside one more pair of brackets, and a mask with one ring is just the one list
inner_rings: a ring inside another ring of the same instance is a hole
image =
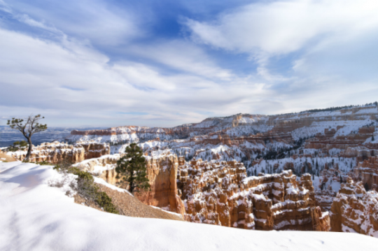
[[148, 183], [146, 159], [143, 151], [136, 143], [130, 144], [126, 150], [126, 156], [117, 162], [117, 177], [122, 177], [122, 182], [129, 185], [129, 191], [148, 190], [151, 186]]

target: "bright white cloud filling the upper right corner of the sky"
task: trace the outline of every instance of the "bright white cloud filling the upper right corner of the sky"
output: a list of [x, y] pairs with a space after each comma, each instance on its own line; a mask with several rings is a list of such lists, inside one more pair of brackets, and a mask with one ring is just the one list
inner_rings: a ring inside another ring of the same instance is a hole
[[378, 27], [375, 0], [288, 0], [252, 3], [217, 20], [186, 25], [195, 41], [238, 52], [286, 54], [316, 39]]

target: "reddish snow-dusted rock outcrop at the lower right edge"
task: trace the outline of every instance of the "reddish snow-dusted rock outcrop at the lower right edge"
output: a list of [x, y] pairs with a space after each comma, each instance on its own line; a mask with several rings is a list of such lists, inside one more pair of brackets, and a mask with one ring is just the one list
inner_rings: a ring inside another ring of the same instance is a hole
[[378, 237], [378, 193], [348, 178], [333, 200], [330, 220], [331, 231]]

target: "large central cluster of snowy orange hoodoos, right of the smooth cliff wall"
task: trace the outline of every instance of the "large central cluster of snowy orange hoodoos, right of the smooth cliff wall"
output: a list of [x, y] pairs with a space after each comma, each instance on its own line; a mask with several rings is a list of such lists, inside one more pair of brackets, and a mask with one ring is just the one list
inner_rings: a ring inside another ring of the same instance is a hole
[[328, 231], [327, 213], [315, 206], [311, 175], [291, 171], [246, 178], [243, 164], [179, 160], [178, 187], [186, 220], [258, 230]]

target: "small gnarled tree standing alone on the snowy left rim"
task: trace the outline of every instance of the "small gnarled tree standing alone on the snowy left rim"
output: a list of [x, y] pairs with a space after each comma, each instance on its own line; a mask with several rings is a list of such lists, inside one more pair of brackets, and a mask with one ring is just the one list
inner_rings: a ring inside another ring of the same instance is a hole
[[27, 142], [29, 143], [29, 148], [27, 150], [27, 155], [24, 161], [29, 161], [31, 155], [31, 136], [36, 134], [40, 131], [45, 131], [47, 129], [47, 124], [39, 124], [39, 120], [44, 119], [45, 117], [41, 117], [40, 114], [38, 115], [30, 115], [27, 120], [24, 122], [22, 119], [12, 118], [12, 120], [8, 120], [8, 125], [10, 128], [21, 131], [22, 134], [27, 138]]

